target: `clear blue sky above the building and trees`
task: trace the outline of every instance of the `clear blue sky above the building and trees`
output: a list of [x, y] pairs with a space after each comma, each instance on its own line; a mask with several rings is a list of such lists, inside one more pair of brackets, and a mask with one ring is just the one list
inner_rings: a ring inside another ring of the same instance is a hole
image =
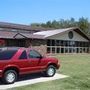
[[90, 20], [90, 0], [0, 0], [0, 21], [20, 24], [49, 20]]

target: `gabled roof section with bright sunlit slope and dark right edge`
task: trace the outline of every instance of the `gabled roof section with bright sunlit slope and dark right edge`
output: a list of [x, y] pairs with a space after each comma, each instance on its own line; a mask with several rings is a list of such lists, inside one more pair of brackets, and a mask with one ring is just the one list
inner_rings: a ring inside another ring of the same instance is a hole
[[47, 37], [50, 37], [53, 35], [62, 34], [63, 32], [72, 31], [72, 30], [76, 31], [77, 33], [82, 35], [84, 38], [90, 40], [90, 38], [78, 27], [71, 27], [71, 28], [65, 28], [65, 29], [55, 29], [55, 30], [48, 30], [48, 31], [40, 31], [40, 32], [34, 33], [34, 35], [44, 35], [44, 38], [47, 38]]

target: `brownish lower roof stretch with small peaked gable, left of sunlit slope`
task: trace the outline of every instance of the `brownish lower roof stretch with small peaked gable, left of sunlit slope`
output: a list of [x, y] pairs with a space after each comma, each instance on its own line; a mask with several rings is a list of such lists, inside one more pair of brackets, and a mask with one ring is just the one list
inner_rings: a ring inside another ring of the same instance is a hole
[[16, 33], [16, 32], [0, 31], [0, 38], [3, 38], [3, 39], [23, 39], [23, 38], [43, 39], [44, 36], [34, 35], [30, 33]]

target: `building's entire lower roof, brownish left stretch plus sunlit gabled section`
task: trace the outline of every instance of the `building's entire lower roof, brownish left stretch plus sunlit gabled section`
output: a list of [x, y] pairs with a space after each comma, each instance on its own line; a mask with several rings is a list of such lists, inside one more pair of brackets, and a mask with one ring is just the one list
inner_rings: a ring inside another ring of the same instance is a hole
[[23, 39], [23, 38], [32, 38], [32, 39], [47, 39], [47, 37], [57, 35], [57, 34], [62, 34], [63, 32], [66, 31], [71, 31], [74, 30], [75, 32], [79, 33], [82, 35], [84, 38], [90, 40], [90, 38], [82, 32], [77, 27], [72, 27], [72, 28], [66, 28], [66, 29], [55, 29], [55, 30], [48, 30], [48, 31], [40, 31], [36, 33], [17, 33], [17, 32], [12, 32], [12, 31], [0, 31], [0, 38], [4, 39]]

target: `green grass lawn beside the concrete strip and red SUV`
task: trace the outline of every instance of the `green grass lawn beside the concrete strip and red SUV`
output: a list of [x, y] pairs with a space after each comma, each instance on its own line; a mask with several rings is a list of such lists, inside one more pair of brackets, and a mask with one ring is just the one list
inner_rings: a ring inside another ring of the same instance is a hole
[[90, 55], [56, 55], [61, 68], [58, 73], [68, 78], [48, 81], [11, 90], [90, 90]]

